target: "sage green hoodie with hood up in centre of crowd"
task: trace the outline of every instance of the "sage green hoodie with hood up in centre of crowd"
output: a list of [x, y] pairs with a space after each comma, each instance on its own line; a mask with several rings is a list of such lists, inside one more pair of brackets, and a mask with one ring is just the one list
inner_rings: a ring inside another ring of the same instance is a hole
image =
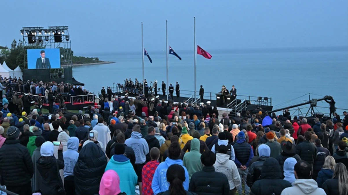
[[203, 168], [202, 163], [200, 162], [201, 154], [199, 153], [199, 147], [199, 140], [197, 138], [193, 138], [191, 140], [190, 152], [187, 152], [184, 155], [184, 166], [189, 172], [189, 179], [191, 179], [193, 173], [201, 171]]

